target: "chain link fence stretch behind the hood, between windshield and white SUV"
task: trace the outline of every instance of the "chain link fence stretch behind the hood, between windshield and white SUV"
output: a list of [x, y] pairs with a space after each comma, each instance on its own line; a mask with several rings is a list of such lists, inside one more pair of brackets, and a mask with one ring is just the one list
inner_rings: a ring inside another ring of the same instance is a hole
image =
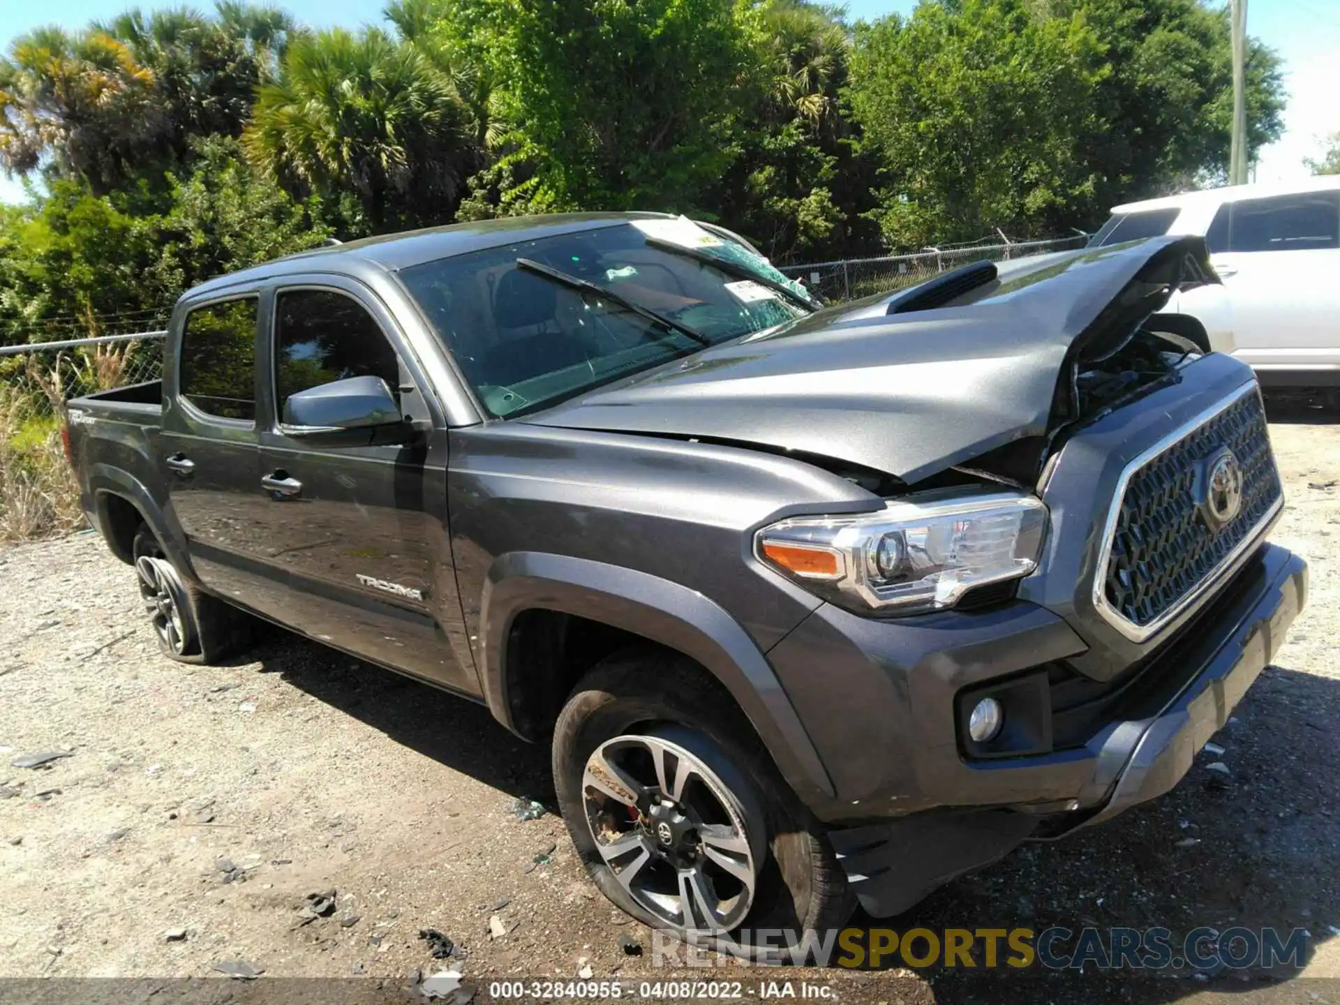
[[825, 300], [840, 303], [872, 293], [891, 293], [915, 285], [970, 261], [1006, 261], [1032, 255], [1083, 248], [1088, 236], [1061, 237], [1051, 241], [1014, 241], [1010, 244], [972, 244], [953, 248], [926, 248], [915, 255], [890, 255], [882, 259], [846, 259], [800, 265], [779, 265], [785, 275], [799, 279]]

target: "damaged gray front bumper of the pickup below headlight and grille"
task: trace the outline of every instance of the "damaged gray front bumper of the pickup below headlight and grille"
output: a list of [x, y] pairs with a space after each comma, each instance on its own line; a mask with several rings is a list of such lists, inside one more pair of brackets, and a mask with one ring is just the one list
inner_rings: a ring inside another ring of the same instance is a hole
[[[863, 725], [871, 717], [909, 730], [903, 738], [911, 742], [884, 741], [888, 756], [898, 757], [892, 770], [874, 762], [870, 749], [856, 757], [856, 772], [852, 764], [825, 757], [840, 795], [848, 797], [816, 812], [833, 825], [831, 840], [862, 904], [875, 915], [896, 914], [1030, 836], [1057, 838], [1171, 789], [1269, 665], [1305, 600], [1302, 559], [1261, 545], [1194, 622], [1158, 647], [1142, 670], [1140, 686], [1131, 689], [1138, 693], [1085, 744], [1002, 760], [963, 756], [947, 713], [953, 695], [1026, 665], [1081, 653], [1083, 643], [1063, 622], [1029, 604], [1014, 604], [927, 624], [921, 631], [930, 636], [919, 641], [900, 630], [898, 653], [864, 649], [867, 677], [886, 686], [867, 683], [858, 698], [863, 710], [850, 710], [840, 734], [824, 730], [819, 748], [844, 749], [847, 757], [854, 754], [852, 745], [878, 750], [880, 741]], [[1006, 616], [1008, 611], [1013, 614]], [[868, 632], [871, 624], [821, 608], [773, 650], [773, 665], [789, 689], [796, 679], [788, 673], [792, 658], [827, 654], [829, 666], [838, 669], [843, 649], [838, 635], [864, 626], [867, 634], [855, 641], [868, 645], [878, 638]], [[891, 636], [884, 632], [884, 638]], [[943, 649], [934, 650], [937, 642]], [[947, 647], [951, 642], [965, 645]], [[909, 645], [926, 651], [907, 653]], [[843, 682], [855, 678], [855, 673], [840, 674]], [[832, 693], [832, 679], [828, 686]], [[835, 742], [835, 736], [846, 740]], [[899, 748], [896, 754], [892, 746]], [[850, 799], [854, 791], [862, 791], [862, 797]]]

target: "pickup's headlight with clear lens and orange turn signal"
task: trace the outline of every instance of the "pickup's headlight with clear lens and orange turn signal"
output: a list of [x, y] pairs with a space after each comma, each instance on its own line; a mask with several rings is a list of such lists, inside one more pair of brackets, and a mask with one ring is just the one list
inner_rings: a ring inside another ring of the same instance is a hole
[[766, 564], [846, 606], [922, 614], [1026, 576], [1045, 532], [1047, 507], [1033, 496], [937, 490], [874, 513], [783, 520], [758, 531], [756, 547]]

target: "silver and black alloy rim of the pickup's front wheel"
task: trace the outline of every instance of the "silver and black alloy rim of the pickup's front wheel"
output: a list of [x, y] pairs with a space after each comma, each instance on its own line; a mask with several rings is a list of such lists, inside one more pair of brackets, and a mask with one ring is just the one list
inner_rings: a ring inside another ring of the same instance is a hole
[[765, 827], [695, 753], [614, 737], [587, 758], [582, 795], [611, 875], [662, 925], [716, 935], [749, 914]]

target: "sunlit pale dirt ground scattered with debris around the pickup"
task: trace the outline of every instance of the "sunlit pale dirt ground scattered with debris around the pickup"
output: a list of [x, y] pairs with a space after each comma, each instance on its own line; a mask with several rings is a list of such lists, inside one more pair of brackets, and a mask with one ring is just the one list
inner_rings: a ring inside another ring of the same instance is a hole
[[[1272, 418], [1288, 494], [1274, 540], [1309, 560], [1311, 603], [1215, 737], [1225, 752], [1167, 797], [1026, 846], [884, 923], [1305, 927], [1308, 974], [1340, 977], [1340, 425], [1274, 402]], [[587, 882], [561, 821], [517, 817], [519, 799], [552, 804], [548, 752], [482, 708], [283, 634], [234, 666], [172, 663], [130, 570], [91, 533], [0, 552], [0, 977], [218, 977], [229, 959], [398, 989], [448, 965], [481, 988], [586, 966], [667, 976], [651, 933]], [[11, 766], [44, 750], [72, 756]], [[308, 895], [331, 888], [335, 910], [307, 918]], [[421, 929], [464, 958], [434, 961]], [[757, 973], [732, 967], [754, 996]], [[781, 977], [862, 1001], [1079, 1000], [949, 972]], [[1096, 988], [1083, 998], [1132, 997]], [[1340, 982], [1245, 973], [1152, 994], [1340, 1002]]]

